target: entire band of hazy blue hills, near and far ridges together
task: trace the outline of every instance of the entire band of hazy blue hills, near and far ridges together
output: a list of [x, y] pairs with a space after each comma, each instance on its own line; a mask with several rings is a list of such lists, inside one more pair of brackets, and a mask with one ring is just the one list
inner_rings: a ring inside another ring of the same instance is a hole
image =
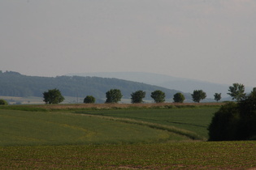
[[[222, 93], [222, 100], [231, 100], [227, 95], [228, 85], [207, 83], [193, 79], [180, 79], [163, 74], [141, 72], [117, 73], [80, 73], [67, 74], [57, 77], [27, 76], [14, 71], [0, 71], [0, 96], [37, 96], [49, 89], [59, 88], [63, 96], [85, 98], [91, 95], [97, 103], [106, 100], [106, 91], [117, 88], [122, 91], [122, 102], [129, 103], [131, 94], [137, 90], [146, 92], [145, 101], [153, 102], [150, 94], [152, 91], [161, 90], [166, 93], [166, 101], [172, 102], [176, 92], [182, 92], [186, 98], [184, 102], [193, 102], [193, 90], [206, 91], [206, 99], [202, 102], [212, 102], [214, 93]], [[246, 88], [245, 88], [246, 89]], [[247, 88], [246, 92], [252, 88]], [[227, 97], [228, 98], [225, 98]]]

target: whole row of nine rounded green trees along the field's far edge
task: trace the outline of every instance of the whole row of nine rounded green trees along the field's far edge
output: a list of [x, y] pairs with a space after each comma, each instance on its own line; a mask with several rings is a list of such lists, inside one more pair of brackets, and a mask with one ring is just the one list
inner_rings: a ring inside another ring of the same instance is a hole
[[[237, 101], [245, 98], [245, 86], [239, 83], [233, 83], [231, 87], [229, 87], [230, 91], [228, 94], [232, 96], [232, 99], [236, 99]], [[195, 90], [191, 95], [193, 97], [194, 102], [200, 102], [206, 98], [206, 92], [202, 90]], [[59, 89], [52, 89], [45, 91], [43, 93], [44, 101], [46, 104], [59, 104], [64, 100]], [[106, 91], [106, 102], [105, 103], [118, 103], [123, 97], [121, 91], [119, 89], [111, 89], [110, 91]], [[151, 97], [155, 103], [162, 103], [165, 101], [165, 93], [160, 90], [156, 90], [151, 92]], [[143, 103], [143, 98], [145, 98], [145, 91], [135, 91], [131, 94], [131, 102], [132, 104]], [[215, 93], [215, 100], [219, 101], [221, 99], [221, 93]], [[176, 103], [183, 103], [185, 98], [181, 92], [177, 92], [173, 96], [173, 100]], [[93, 96], [86, 96], [84, 99], [84, 103], [95, 103], [95, 98]]]

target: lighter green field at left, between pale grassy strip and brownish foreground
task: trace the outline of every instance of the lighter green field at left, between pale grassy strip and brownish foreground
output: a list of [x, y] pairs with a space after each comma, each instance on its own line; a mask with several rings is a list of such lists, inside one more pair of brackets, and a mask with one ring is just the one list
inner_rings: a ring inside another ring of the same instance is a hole
[[0, 146], [189, 140], [166, 130], [73, 113], [1, 110]]

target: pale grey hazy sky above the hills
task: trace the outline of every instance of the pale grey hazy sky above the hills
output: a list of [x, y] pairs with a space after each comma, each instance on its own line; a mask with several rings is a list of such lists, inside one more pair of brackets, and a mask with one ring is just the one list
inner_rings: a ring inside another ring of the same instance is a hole
[[0, 70], [256, 86], [255, 0], [1, 0]]

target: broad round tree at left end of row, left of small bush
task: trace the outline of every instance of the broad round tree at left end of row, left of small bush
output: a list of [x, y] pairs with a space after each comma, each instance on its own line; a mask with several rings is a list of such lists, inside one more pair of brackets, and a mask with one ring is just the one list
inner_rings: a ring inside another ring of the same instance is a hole
[[46, 104], [59, 104], [65, 100], [59, 89], [54, 88], [43, 93]]

